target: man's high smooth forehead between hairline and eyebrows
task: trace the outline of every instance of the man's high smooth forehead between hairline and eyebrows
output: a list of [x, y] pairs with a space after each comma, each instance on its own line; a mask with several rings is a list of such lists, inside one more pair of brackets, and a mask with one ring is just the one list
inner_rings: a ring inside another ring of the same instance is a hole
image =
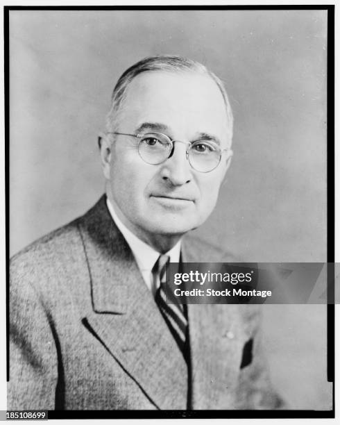
[[[126, 92], [122, 119], [136, 125], [161, 122], [169, 127], [228, 133], [226, 105], [210, 76], [196, 72], [145, 72]], [[193, 128], [192, 128], [193, 129]]]

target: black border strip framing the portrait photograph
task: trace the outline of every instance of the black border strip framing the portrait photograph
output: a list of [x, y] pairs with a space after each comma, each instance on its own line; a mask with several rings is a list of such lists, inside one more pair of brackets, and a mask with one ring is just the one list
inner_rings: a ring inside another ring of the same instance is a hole
[[[239, 6], [3, 6], [4, 106], [5, 106], [5, 214], [6, 214], [6, 373], [9, 381], [9, 172], [10, 172], [10, 48], [11, 10], [327, 10], [327, 259], [334, 264], [334, 5], [239, 5]], [[334, 267], [334, 266], [333, 266]], [[329, 269], [328, 269], [329, 271]], [[334, 269], [333, 269], [334, 272]], [[333, 274], [334, 276], [334, 274]], [[331, 276], [332, 277], [332, 276]], [[328, 287], [330, 290], [332, 286]], [[334, 295], [333, 295], [334, 297]], [[333, 298], [334, 299], [334, 298]], [[265, 419], [334, 418], [334, 305], [327, 306], [328, 382], [332, 410], [49, 410], [49, 419]]]

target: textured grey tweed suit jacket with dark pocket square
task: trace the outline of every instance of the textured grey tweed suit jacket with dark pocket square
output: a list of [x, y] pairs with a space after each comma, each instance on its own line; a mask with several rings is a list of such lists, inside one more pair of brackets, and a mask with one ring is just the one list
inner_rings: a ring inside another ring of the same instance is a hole
[[[232, 258], [184, 238], [182, 260]], [[189, 372], [102, 197], [11, 260], [8, 410], [280, 407], [257, 306], [187, 312]]]

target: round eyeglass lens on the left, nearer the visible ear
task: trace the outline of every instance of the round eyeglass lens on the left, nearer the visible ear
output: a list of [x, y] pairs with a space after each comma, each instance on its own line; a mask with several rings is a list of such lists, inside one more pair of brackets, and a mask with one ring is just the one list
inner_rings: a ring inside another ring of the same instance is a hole
[[171, 152], [171, 142], [160, 133], [148, 133], [139, 140], [139, 155], [148, 164], [160, 164]]

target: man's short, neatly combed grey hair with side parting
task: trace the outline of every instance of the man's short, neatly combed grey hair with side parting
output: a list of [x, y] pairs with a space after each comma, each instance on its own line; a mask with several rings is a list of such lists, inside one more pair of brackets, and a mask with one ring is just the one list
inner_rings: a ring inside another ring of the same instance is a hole
[[121, 75], [112, 92], [111, 108], [106, 117], [106, 131], [108, 131], [108, 133], [117, 131], [119, 122], [118, 115], [121, 110], [121, 105], [124, 103], [124, 99], [126, 99], [128, 85], [137, 75], [142, 74], [142, 72], [150, 71], [195, 72], [197, 74], [210, 76], [221, 91], [226, 105], [227, 118], [230, 124], [230, 139], [232, 138], [232, 125], [234, 121], [232, 117], [232, 109], [226, 88], [224, 87], [221, 79], [196, 60], [172, 55], [148, 56], [147, 58], [139, 60], [139, 62], [132, 65], [132, 67], [126, 69], [126, 71]]

